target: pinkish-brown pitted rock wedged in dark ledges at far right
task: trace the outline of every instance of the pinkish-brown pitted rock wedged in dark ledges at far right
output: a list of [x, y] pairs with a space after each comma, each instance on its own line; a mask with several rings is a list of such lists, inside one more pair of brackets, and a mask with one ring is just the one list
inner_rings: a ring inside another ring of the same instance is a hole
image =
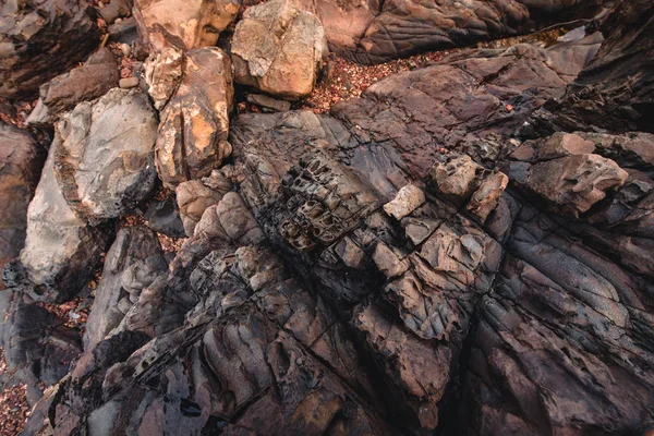
[[600, 155], [576, 155], [538, 162], [529, 169], [526, 185], [574, 218], [619, 187], [628, 172]]

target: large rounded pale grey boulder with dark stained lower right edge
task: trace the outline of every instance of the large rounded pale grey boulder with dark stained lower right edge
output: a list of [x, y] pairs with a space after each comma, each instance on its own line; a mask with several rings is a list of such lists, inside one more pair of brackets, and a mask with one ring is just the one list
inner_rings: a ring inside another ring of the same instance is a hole
[[63, 196], [78, 216], [116, 218], [155, 186], [157, 116], [147, 96], [112, 89], [57, 123], [52, 149]]

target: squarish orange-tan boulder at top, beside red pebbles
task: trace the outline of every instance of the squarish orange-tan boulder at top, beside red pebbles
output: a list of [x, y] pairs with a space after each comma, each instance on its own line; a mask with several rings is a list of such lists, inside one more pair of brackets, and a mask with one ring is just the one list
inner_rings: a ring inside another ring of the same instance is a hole
[[243, 14], [231, 52], [237, 83], [296, 99], [311, 94], [328, 49], [315, 15], [290, 0], [271, 0]]

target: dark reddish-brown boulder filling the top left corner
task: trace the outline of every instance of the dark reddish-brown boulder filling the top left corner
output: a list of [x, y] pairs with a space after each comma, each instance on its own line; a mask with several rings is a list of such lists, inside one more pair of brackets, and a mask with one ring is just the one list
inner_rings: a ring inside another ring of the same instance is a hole
[[0, 97], [36, 94], [98, 45], [100, 31], [86, 0], [26, 0], [0, 4]]

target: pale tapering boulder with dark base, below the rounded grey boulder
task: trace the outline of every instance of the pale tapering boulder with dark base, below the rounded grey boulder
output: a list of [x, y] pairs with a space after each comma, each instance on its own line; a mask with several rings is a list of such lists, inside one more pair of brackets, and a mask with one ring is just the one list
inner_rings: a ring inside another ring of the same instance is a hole
[[102, 238], [66, 203], [55, 175], [52, 144], [27, 209], [25, 247], [3, 271], [7, 286], [40, 301], [70, 300], [86, 284], [104, 247]]

